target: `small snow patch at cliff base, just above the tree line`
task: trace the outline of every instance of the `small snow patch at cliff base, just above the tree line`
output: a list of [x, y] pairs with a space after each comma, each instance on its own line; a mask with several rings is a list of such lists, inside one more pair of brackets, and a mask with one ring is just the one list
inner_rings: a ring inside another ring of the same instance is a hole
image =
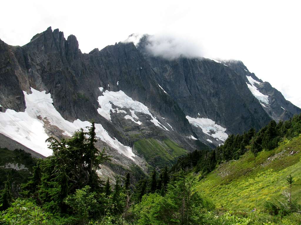
[[192, 118], [190, 116], [186, 116], [186, 119], [188, 119], [190, 124], [201, 128], [203, 133], [208, 134], [211, 137], [217, 138], [221, 141], [225, 141], [228, 138], [228, 134], [225, 133], [227, 129], [216, 124], [212, 119], [199, 117]]

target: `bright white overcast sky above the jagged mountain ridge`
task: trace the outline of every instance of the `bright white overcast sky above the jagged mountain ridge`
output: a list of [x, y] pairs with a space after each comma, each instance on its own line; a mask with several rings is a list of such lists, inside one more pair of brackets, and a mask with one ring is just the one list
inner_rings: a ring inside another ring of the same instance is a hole
[[300, 2], [10, 0], [1, 2], [0, 38], [22, 46], [51, 26], [88, 53], [132, 33], [170, 35], [194, 55], [243, 61], [301, 107]]

